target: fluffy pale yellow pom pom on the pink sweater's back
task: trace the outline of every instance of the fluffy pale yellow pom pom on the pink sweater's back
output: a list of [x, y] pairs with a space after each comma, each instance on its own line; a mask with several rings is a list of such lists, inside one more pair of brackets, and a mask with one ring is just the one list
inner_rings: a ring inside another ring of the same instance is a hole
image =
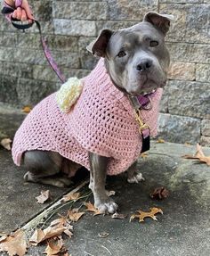
[[82, 81], [78, 78], [69, 78], [56, 94], [56, 101], [61, 111], [70, 111], [72, 105], [77, 102], [83, 89]]

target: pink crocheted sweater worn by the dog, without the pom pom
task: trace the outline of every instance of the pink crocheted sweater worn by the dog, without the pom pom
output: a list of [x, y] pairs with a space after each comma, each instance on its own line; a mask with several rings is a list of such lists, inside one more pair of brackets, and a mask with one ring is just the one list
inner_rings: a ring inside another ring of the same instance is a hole
[[[128, 169], [141, 153], [141, 135], [127, 96], [113, 85], [101, 59], [82, 79], [84, 87], [77, 103], [62, 112], [56, 93], [44, 98], [28, 114], [17, 130], [13, 161], [20, 165], [22, 153], [53, 151], [90, 169], [88, 152], [109, 157], [107, 173], [116, 175]], [[162, 89], [152, 97], [152, 109], [141, 111], [151, 136], [157, 135], [158, 103]]]

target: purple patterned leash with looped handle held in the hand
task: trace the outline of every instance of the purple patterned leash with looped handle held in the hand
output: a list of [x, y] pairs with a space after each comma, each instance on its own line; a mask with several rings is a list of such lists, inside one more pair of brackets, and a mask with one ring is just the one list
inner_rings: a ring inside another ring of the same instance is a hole
[[[18, 3], [18, 2], [20, 2], [20, 3]], [[21, 6], [21, 1], [20, 0], [19, 1], [15, 1], [15, 6], [16, 6], [16, 8]], [[64, 83], [66, 81], [66, 78], [62, 74], [62, 72], [59, 69], [57, 63], [52, 58], [52, 54], [51, 54], [48, 46], [46, 45], [45, 39], [44, 39], [44, 37], [42, 35], [42, 29], [41, 29], [40, 23], [38, 21], [36, 21], [36, 20], [34, 20], [32, 23], [28, 23], [28, 24], [17, 23], [16, 21], [19, 21], [19, 20], [12, 18], [12, 12], [14, 12], [14, 11], [15, 11], [15, 9], [13, 9], [12, 6], [9, 6], [8, 4], [6, 4], [4, 2], [4, 8], [2, 10], [2, 13], [4, 15], [6, 15], [7, 20], [11, 21], [11, 23], [12, 23], [14, 28], [21, 29], [24, 32], [25, 29], [31, 28], [34, 25], [34, 23], [36, 23], [36, 27], [37, 27], [37, 29], [39, 31], [40, 41], [41, 41], [41, 44], [42, 44], [42, 47], [43, 47], [43, 52], [44, 52], [45, 58], [46, 58], [47, 62], [49, 62], [50, 66], [52, 67], [52, 70], [54, 70], [54, 72], [56, 73], [58, 78], [60, 78], [61, 82]]]

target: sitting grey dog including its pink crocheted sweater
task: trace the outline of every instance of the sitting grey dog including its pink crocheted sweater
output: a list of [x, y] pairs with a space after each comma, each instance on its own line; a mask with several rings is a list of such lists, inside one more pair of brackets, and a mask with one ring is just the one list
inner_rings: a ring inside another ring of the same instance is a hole
[[[117, 211], [117, 203], [106, 194], [106, 175], [117, 174], [119, 169], [123, 169], [123, 171], [127, 169], [130, 182], [141, 180], [141, 175], [136, 171], [136, 160], [141, 153], [141, 136], [136, 132], [136, 121], [131, 117], [132, 106], [129, 105], [127, 98], [158, 91], [158, 96], [155, 97], [158, 97], [159, 101], [161, 88], [166, 85], [166, 74], [170, 62], [165, 37], [172, 20], [171, 15], [148, 12], [143, 21], [133, 27], [117, 31], [103, 29], [99, 37], [87, 46], [88, 51], [100, 57], [101, 60], [84, 83], [92, 84], [94, 80], [98, 79], [97, 87], [85, 86], [82, 95], [79, 96], [77, 103], [72, 108], [72, 114], [71, 112], [62, 114], [54, 100], [50, 101], [52, 96], [48, 97], [29, 113], [14, 137], [13, 160], [16, 164], [20, 164], [22, 161], [25, 168], [28, 169], [24, 176], [26, 181], [53, 186], [69, 186], [69, 178], [55, 178], [55, 175], [61, 170], [71, 173], [69, 176], [74, 175], [81, 166], [81, 158], [84, 157], [85, 163], [82, 165], [90, 169], [89, 187], [93, 191], [94, 206], [101, 212], [114, 213]], [[106, 79], [103, 78], [104, 76]], [[109, 83], [106, 82], [107, 80]], [[109, 94], [110, 88], [111, 93]], [[89, 104], [84, 111], [82, 101], [86, 103], [89, 100], [83, 100], [87, 91], [91, 92], [93, 98], [99, 97], [101, 102], [90, 101], [94, 106]], [[103, 98], [105, 95], [108, 100]], [[119, 105], [120, 111], [117, 110], [117, 117], [112, 116], [115, 108], [112, 101], [117, 106]], [[41, 122], [41, 118], [44, 116], [42, 111], [49, 105], [51, 111], [47, 113], [48, 120]], [[96, 111], [95, 108], [97, 108]], [[158, 104], [154, 103], [153, 108], [155, 110], [152, 111], [158, 113]], [[98, 120], [95, 120], [99, 111], [101, 114]], [[105, 111], [106, 113], [104, 113]], [[142, 115], [144, 113], [147, 114], [147, 111], [142, 111]], [[84, 116], [86, 119], [88, 118], [86, 124], [85, 119], [83, 120]], [[73, 125], [76, 118], [78, 119]], [[56, 119], [59, 123], [56, 128], [61, 125], [63, 120], [65, 120], [65, 125], [56, 130], [53, 128], [54, 123], [51, 124], [52, 119]], [[147, 121], [147, 118], [145, 119]], [[157, 122], [157, 115], [155, 119]], [[77, 122], [80, 120], [81, 124], [78, 126]], [[71, 122], [72, 126], [66, 125]], [[98, 123], [100, 125], [95, 128]], [[47, 126], [45, 130], [44, 125]], [[36, 129], [30, 132], [29, 129], [34, 127]], [[150, 129], [152, 129], [152, 125]], [[48, 130], [51, 130], [51, 136], [48, 136]], [[62, 137], [64, 132], [71, 137], [69, 138], [70, 143], [64, 138], [65, 136]], [[27, 142], [23, 143], [26, 140]], [[95, 145], [93, 145], [94, 140], [97, 140]], [[122, 146], [121, 150], [122, 140], [125, 146]], [[78, 145], [76, 145], [76, 141], [79, 142]], [[62, 143], [62, 148], [69, 152], [70, 157], [65, 155], [64, 151], [60, 152], [59, 143]], [[75, 153], [77, 149], [81, 150], [81, 147], [85, 147], [85, 156], [82, 152]], [[122, 151], [124, 152], [122, 153]]]

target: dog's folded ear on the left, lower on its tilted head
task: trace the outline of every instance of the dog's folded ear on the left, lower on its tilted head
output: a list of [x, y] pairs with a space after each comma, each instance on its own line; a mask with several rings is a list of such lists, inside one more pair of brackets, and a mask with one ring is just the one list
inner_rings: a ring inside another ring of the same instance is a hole
[[109, 43], [109, 39], [114, 32], [109, 29], [103, 29], [99, 35], [86, 49], [93, 55], [98, 57], [106, 56], [106, 48]]

